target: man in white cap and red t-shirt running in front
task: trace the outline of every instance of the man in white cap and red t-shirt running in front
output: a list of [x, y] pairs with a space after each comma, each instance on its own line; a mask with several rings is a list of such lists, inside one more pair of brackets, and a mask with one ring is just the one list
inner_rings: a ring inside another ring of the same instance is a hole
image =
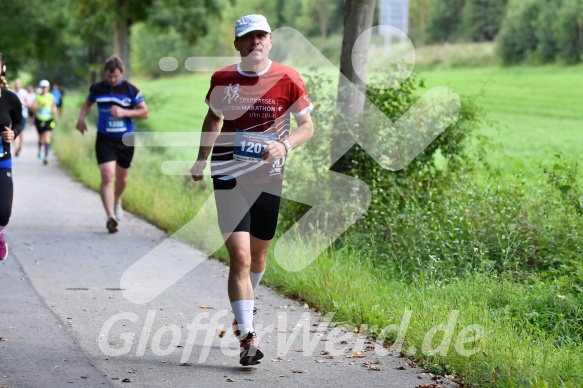
[[[191, 169], [195, 181], [203, 179], [212, 150], [211, 176], [230, 257], [228, 293], [242, 365], [263, 357], [253, 328], [254, 291], [275, 235], [285, 161], [314, 132], [304, 82], [297, 71], [269, 59], [272, 44], [264, 16], [243, 16], [235, 23], [241, 62], [211, 78], [205, 100], [209, 110]], [[290, 113], [297, 123], [293, 132]]]

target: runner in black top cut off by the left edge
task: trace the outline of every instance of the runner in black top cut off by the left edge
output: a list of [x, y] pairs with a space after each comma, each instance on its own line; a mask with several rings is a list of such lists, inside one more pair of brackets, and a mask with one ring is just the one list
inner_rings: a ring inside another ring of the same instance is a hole
[[8, 256], [4, 241], [4, 227], [8, 225], [12, 212], [12, 155], [10, 143], [22, 131], [22, 104], [18, 96], [8, 90], [4, 74], [6, 64], [0, 53], [0, 260]]

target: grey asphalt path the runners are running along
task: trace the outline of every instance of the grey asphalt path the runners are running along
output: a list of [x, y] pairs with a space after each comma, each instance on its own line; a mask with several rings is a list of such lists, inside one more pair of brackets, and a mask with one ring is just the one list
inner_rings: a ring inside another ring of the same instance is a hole
[[327, 327], [315, 312], [263, 286], [255, 325], [266, 356], [239, 366], [228, 268], [213, 259], [148, 303], [126, 299], [122, 275], [155, 247], [161, 262], [164, 250], [183, 258], [202, 253], [129, 213], [120, 231], [108, 234], [98, 194], [71, 179], [54, 155], [43, 166], [35, 142], [29, 127], [14, 160], [10, 253], [0, 262], [0, 387], [434, 383], [419, 379], [422, 371], [406, 359]]

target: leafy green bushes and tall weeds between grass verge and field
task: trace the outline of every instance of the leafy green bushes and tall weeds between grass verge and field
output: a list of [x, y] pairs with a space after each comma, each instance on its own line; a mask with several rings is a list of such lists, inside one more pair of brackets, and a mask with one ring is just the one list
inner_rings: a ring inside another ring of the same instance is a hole
[[[317, 131], [338, 130], [333, 125], [337, 119], [332, 81], [321, 75], [306, 79], [314, 101], [321, 103], [313, 112]], [[369, 87], [367, 97], [395, 121], [418, 100], [423, 81], [413, 75], [403, 84], [389, 85], [394, 87]], [[475, 271], [493, 271], [517, 279], [533, 273], [552, 279], [573, 275], [573, 285], [583, 285], [577, 265], [582, 249], [576, 237], [583, 232], [578, 214], [583, 195], [575, 179], [576, 168], [567, 173], [567, 167], [555, 164], [545, 170], [549, 180], [540, 180], [534, 188], [526, 186], [521, 174], [502, 179], [488, 166], [490, 177], [476, 180], [476, 167], [491, 145], [478, 131], [485, 122], [482, 110], [471, 99], [463, 99], [457, 122], [400, 171], [381, 168], [364, 150], [354, 147], [345, 156], [346, 173], [364, 181], [372, 199], [364, 216], [337, 244], [356, 247], [363, 260], [407, 279], [429, 276], [448, 281]], [[379, 142], [385, 140], [379, 138]], [[316, 188], [315, 192], [325, 192], [318, 188], [326, 187], [330, 147], [308, 142], [296, 151], [294, 158], [310, 169], [301, 176], [288, 175], [290, 191]], [[336, 213], [350, 211], [343, 210], [346, 198], [323, 200]], [[285, 228], [306, 210], [305, 205], [286, 202], [282, 209]]]

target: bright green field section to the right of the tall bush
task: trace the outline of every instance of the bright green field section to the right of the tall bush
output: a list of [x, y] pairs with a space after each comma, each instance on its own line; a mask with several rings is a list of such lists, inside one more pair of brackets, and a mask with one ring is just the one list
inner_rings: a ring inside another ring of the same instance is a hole
[[578, 157], [583, 110], [579, 103], [583, 66], [455, 68], [421, 71], [427, 87], [445, 85], [460, 95], [477, 96], [488, 117], [499, 124], [485, 133], [502, 145], [489, 160], [527, 176], [557, 152]]

